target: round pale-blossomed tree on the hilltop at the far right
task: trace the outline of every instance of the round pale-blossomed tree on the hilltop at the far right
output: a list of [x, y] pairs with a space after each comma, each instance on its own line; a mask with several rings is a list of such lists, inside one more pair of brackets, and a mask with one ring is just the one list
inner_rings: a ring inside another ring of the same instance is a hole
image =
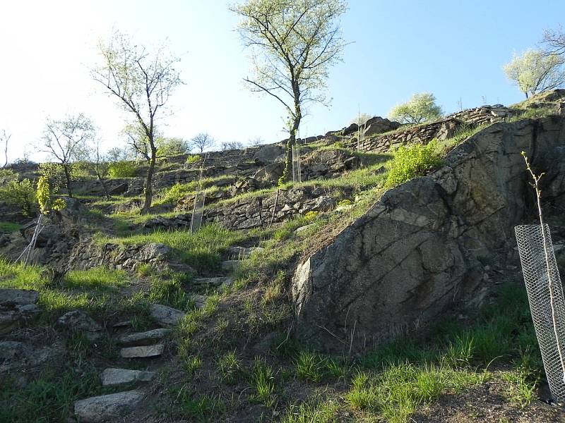
[[518, 85], [528, 98], [537, 92], [553, 90], [565, 83], [565, 58], [542, 50], [527, 50], [514, 54], [510, 63], [504, 65], [506, 78]]

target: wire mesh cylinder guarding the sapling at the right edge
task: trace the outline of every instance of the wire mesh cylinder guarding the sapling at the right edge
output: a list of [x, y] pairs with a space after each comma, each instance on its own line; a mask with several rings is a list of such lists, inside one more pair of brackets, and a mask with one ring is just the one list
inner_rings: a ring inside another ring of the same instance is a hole
[[540, 225], [521, 225], [514, 230], [549, 391], [554, 400], [564, 402], [564, 357], [559, 355], [559, 347], [563, 353], [565, 301], [549, 226], [545, 225], [545, 241]]

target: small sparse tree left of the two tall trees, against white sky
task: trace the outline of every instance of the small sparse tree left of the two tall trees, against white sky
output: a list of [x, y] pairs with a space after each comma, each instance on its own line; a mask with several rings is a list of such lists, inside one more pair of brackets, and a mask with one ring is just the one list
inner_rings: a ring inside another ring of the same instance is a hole
[[83, 159], [90, 142], [94, 140], [95, 128], [83, 114], [67, 116], [63, 120], [48, 118], [41, 138], [41, 151], [49, 154], [61, 166], [64, 173], [65, 188], [73, 197], [73, 161]]

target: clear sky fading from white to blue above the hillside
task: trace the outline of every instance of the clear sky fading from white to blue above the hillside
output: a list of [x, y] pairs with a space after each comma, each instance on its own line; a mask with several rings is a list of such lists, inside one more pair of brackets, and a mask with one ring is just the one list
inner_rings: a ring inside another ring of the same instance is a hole
[[[285, 137], [283, 109], [247, 92], [247, 53], [224, 0], [3, 1], [0, 25], [0, 129], [11, 132], [10, 159], [40, 160], [30, 145], [47, 116], [83, 112], [107, 148], [123, 145], [124, 114], [90, 78], [95, 45], [112, 29], [150, 45], [168, 38], [186, 82], [162, 133], [218, 141]], [[536, 47], [545, 28], [565, 20], [562, 0], [350, 0], [343, 37], [351, 42], [332, 68], [332, 106], [312, 106], [301, 136], [342, 128], [359, 111], [386, 116], [415, 92], [432, 92], [446, 112], [512, 104], [523, 94], [504, 77], [513, 51]]]

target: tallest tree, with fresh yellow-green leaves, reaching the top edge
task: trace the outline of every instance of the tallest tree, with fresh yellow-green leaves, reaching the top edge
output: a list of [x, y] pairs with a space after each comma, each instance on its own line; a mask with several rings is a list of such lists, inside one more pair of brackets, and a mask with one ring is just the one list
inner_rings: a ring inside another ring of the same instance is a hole
[[254, 75], [244, 82], [283, 104], [287, 113], [286, 180], [305, 105], [327, 104], [328, 71], [345, 46], [337, 21], [345, 1], [247, 0], [231, 10], [241, 18], [239, 32], [252, 51]]

